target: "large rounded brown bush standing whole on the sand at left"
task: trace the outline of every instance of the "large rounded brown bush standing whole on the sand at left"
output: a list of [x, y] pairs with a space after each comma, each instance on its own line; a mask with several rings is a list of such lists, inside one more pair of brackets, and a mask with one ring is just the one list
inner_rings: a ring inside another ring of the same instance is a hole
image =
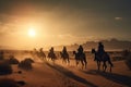
[[26, 59], [19, 63], [19, 67], [23, 69], [23, 70], [32, 70], [33, 69], [32, 62]]

